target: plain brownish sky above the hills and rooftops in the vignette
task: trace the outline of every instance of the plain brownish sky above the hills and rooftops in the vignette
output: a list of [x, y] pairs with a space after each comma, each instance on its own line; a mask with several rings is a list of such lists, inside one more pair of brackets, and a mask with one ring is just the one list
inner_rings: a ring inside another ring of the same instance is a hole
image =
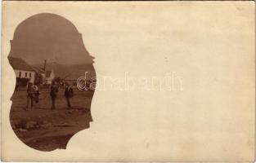
[[92, 63], [74, 24], [49, 13], [33, 15], [16, 27], [10, 55], [29, 64], [43, 64], [44, 59], [58, 64]]

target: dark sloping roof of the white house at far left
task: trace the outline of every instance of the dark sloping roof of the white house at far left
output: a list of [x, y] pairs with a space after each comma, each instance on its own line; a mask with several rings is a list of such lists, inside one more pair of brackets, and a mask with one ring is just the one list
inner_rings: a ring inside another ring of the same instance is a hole
[[34, 68], [27, 64], [24, 59], [15, 58], [12, 56], [9, 56], [8, 59], [13, 69], [34, 72]]

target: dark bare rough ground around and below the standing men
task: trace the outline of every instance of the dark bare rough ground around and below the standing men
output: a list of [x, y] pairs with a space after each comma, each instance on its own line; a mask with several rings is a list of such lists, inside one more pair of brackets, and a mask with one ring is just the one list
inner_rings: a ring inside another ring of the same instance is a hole
[[89, 127], [93, 92], [74, 90], [72, 109], [66, 107], [63, 95], [64, 91], [59, 90], [56, 109], [52, 110], [48, 90], [40, 90], [39, 103], [25, 111], [26, 91], [15, 90], [11, 97], [10, 121], [22, 142], [41, 151], [66, 148], [75, 133]]

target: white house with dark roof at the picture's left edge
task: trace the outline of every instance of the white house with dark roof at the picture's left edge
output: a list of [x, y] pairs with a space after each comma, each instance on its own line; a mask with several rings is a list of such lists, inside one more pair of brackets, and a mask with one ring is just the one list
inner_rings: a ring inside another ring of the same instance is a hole
[[34, 83], [35, 71], [25, 60], [15, 57], [8, 57], [11, 67], [16, 73], [16, 85], [24, 86], [28, 81]]

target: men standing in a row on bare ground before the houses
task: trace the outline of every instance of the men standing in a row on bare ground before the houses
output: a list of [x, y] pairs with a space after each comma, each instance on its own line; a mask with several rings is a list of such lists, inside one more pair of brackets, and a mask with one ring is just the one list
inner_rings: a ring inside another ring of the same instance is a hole
[[[59, 86], [56, 85], [56, 83], [53, 81], [52, 85], [50, 87], [50, 96], [52, 99], [52, 109], [56, 108], [56, 97], [57, 97], [57, 93], [59, 90]], [[28, 110], [29, 108], [29, 103], [31, 105], [31, 108], [33, 108], [33, 104], [34, 104], [34, 100], [36, 103], [39, 102], [39, 91], [38, 91], [38, 86], [34, 85], [33, 83], [28, 84], [27, 86], [27, 107], [25, 108], [25, 110]], [[70, 86], [70, 84], [66, 83], [65, 84], [65, 99], [67, 102], [67, 107], [70, 109], [71, 108], [71, 104], [70, 104], [70, 98], [72, 98], [74, 95], [73, 89]]]

